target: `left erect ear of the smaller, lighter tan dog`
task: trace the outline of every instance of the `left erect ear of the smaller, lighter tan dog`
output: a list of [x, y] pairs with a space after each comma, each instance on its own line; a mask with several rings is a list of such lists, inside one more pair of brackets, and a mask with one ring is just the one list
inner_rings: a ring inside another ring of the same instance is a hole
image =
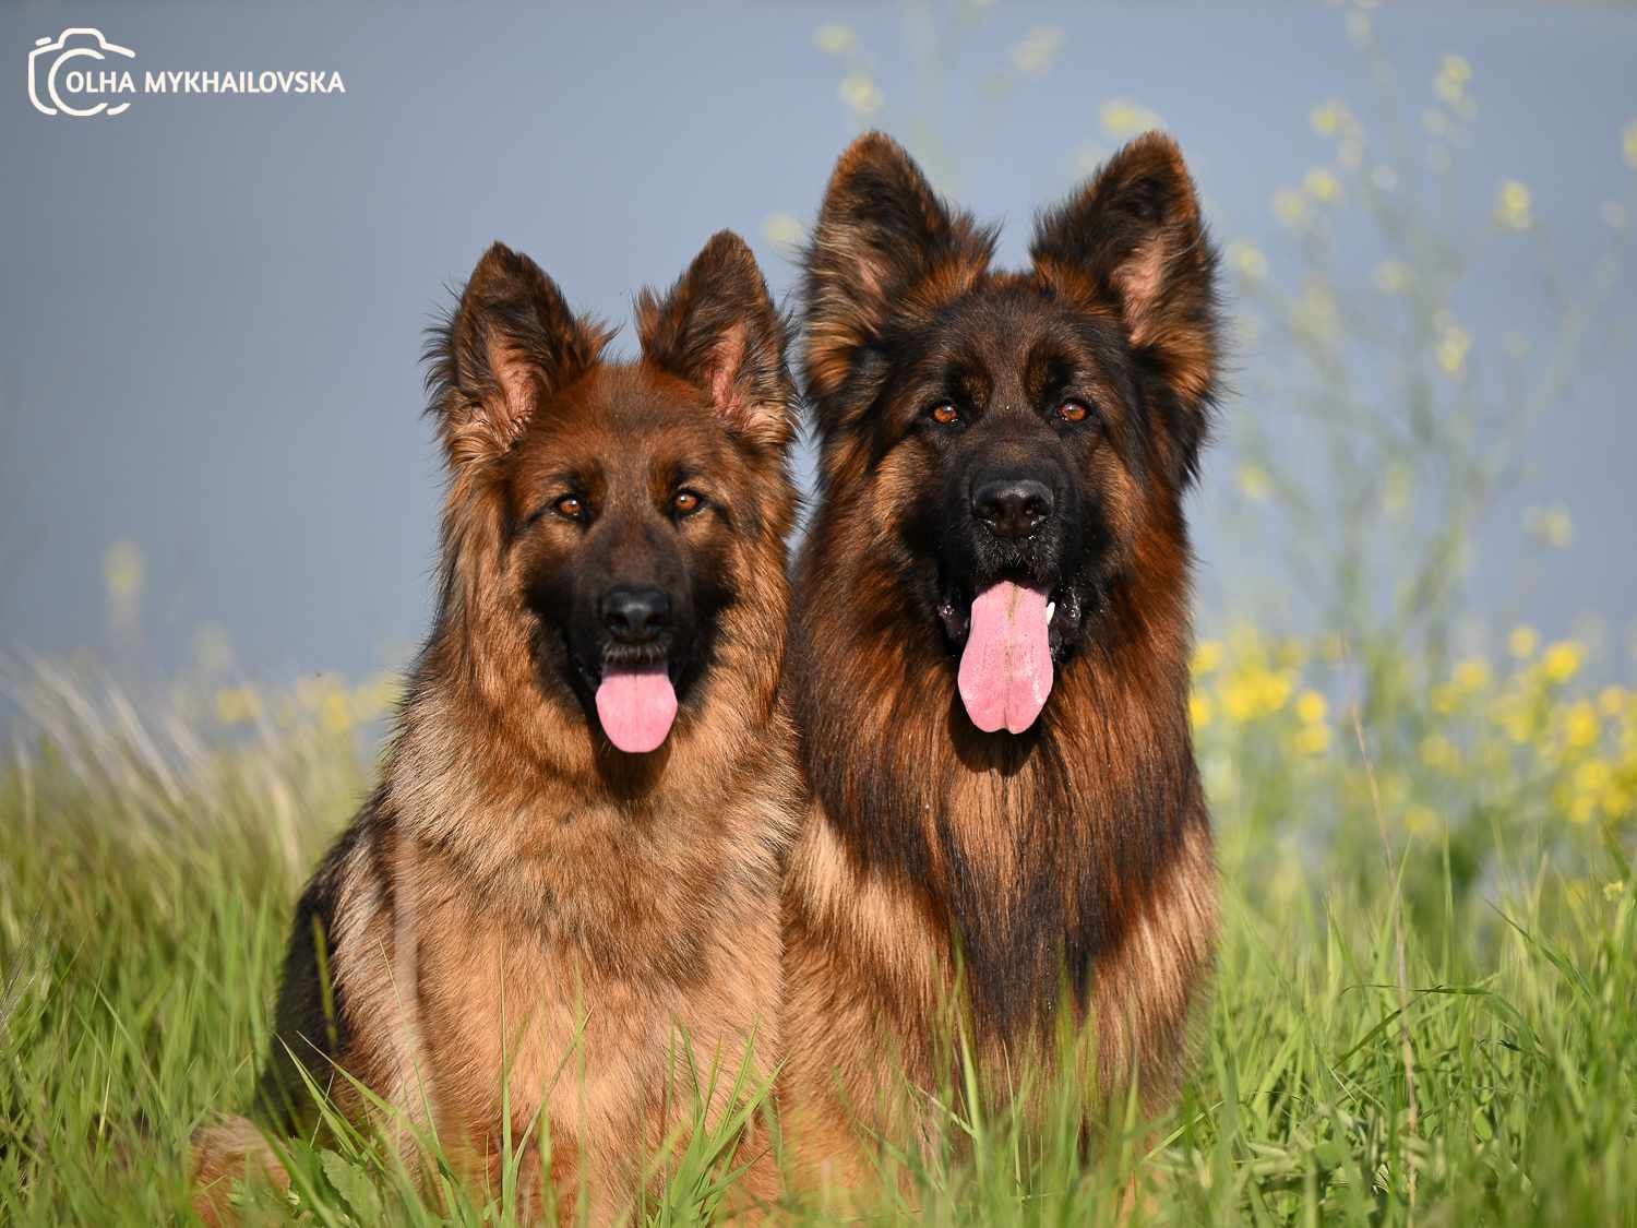
[[609, 332], [576, 319], [557, 283], [494, 244], [426, 347], [427, 386], [450, 465], [506, 455], [540, 401], [598, 360]]

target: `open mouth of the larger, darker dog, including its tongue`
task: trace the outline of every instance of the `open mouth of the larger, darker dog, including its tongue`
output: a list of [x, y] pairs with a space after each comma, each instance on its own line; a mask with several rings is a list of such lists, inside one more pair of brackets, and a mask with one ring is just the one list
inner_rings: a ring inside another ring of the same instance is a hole
[[1023, 734], [1046, 707], [1056, 663], [1079, 625], [1074, 589], [999, 580], [938, 604], [945, 634], [961, 648], [958, 689], [985, 734]]

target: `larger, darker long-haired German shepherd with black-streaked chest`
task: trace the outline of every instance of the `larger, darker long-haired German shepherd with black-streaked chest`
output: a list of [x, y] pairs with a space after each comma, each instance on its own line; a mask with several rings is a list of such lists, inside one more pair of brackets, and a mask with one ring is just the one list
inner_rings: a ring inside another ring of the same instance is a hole
[[951, 1086], [949, 1004], [985, 1094], [1051, 1063], [1067, 1017], [1094, 1099], [1136, 1079], [1157, 1104], [1213, 963], [1184, 494], [1216, 255], [1157, 134], [1039, 218], [1028, 272], [992, 270], [994, 242], [869, 134], [805, 255], [782, 1104], [841, 1182], [869, 1176], [863, 1138], [927, 1128], [891, 1081]]

